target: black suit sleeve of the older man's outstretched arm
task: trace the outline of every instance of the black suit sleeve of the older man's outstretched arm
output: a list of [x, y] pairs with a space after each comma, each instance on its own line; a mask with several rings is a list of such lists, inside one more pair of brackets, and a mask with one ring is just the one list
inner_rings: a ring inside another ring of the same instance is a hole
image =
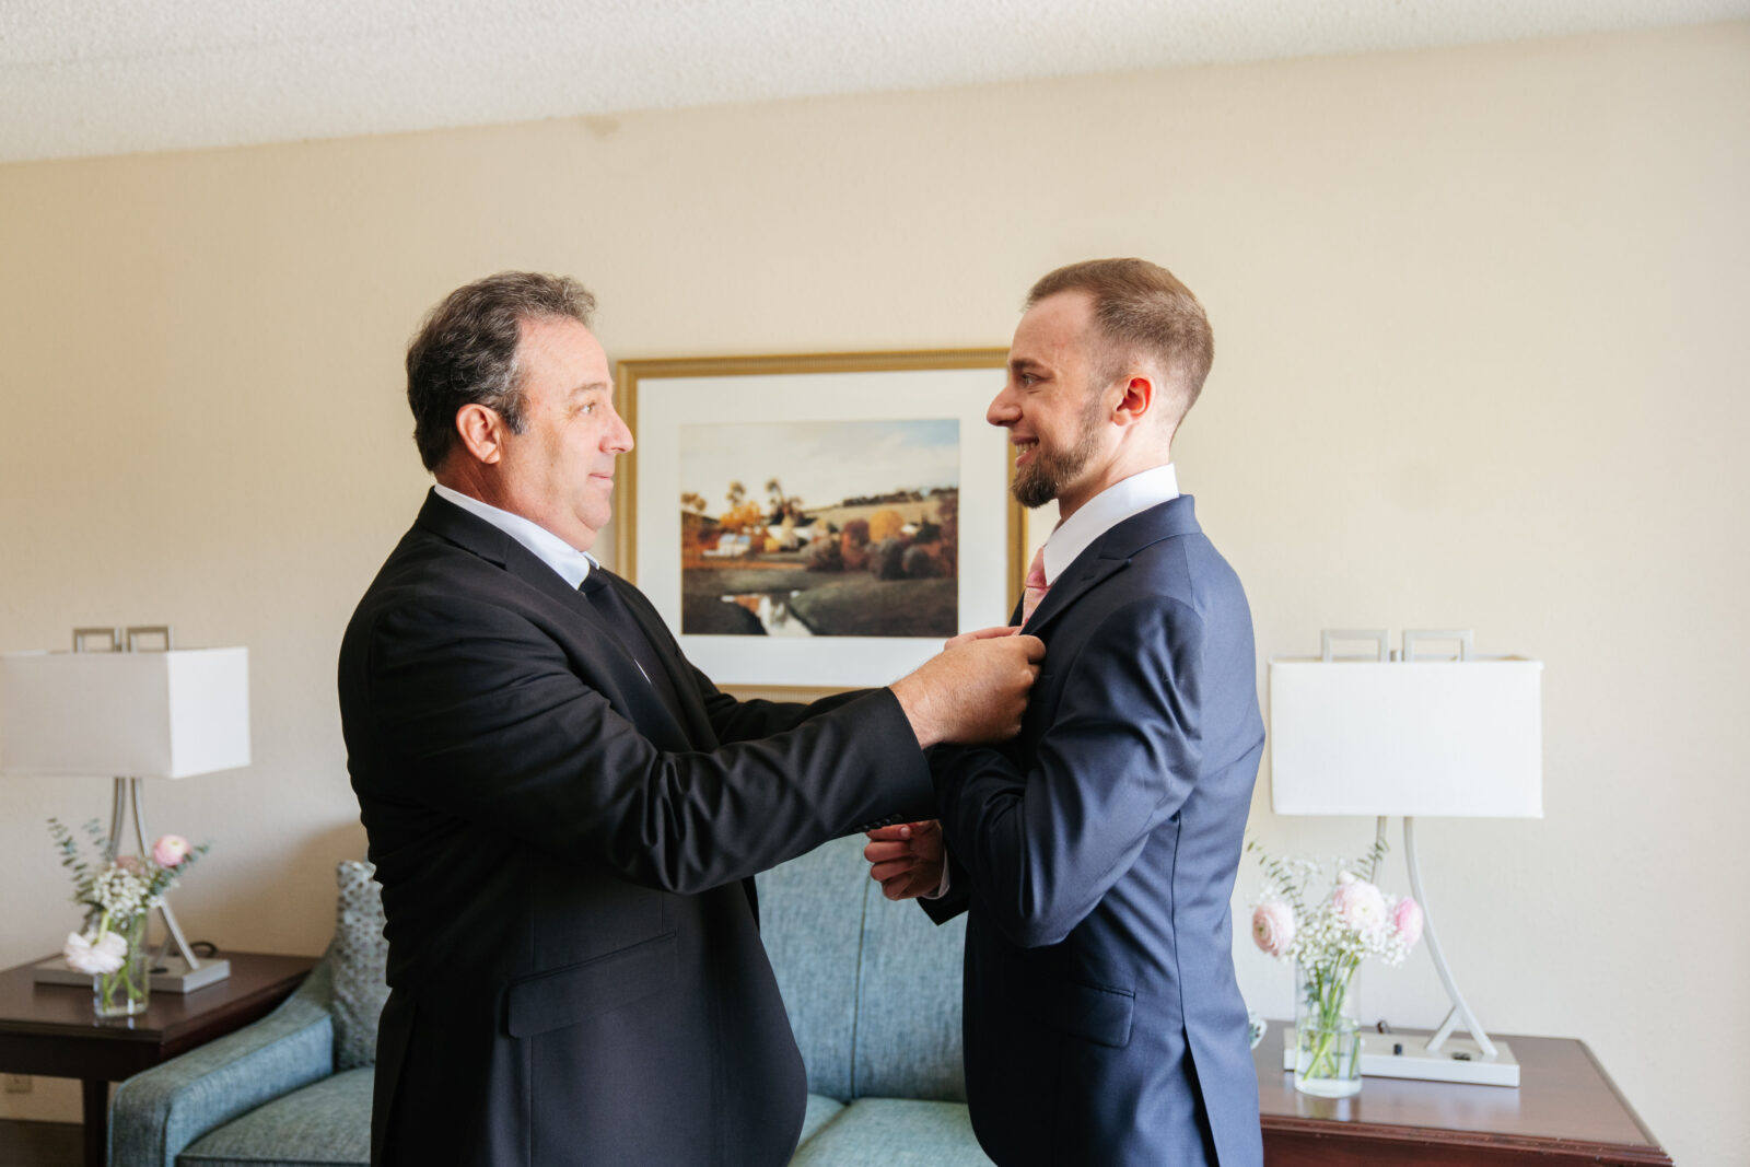
[[343, 688], [360, 793], [606, 863], [665, 891], [763, 871], [933, 796], [922, 751], [887, 689], [817, 716], [763, 717], [789, 726], [770, 737], [665, 752], [548, 635], [469, 597], [420, 595], [382, 609], [366, 633], [362, 677], [362, 695]]

